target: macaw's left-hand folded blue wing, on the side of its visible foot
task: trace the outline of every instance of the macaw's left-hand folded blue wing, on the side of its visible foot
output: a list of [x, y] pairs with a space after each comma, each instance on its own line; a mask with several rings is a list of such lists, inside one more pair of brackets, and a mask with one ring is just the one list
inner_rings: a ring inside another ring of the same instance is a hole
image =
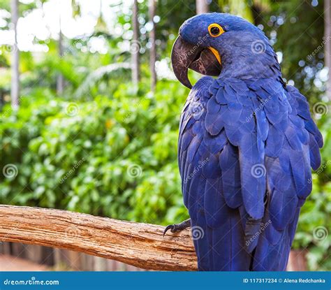
[[203, 231], [194, 240], [200, 270], [248, 270], [251, 263], [244, 220], [247, 211], [263, 217], [265, 176], [251, 174], [253, 165], [263, 163], [263, 146], [256, 141], [247, 92], [244, 82], [227, 87], [205, 77], [191, 90], [182, 113], [179, 171], [193, 240], [195, 226]]

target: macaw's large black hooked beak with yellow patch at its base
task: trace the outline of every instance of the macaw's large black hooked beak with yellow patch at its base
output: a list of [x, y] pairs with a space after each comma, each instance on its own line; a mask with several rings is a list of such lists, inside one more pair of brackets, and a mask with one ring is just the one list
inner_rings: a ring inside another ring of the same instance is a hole
[[221, 58], [214, 48], [191, 45], [178, 36], [171, 52], [172, 68], [179, 82], [191, 89], [189, 68], [203, 75], [217, 76], [221, 73]]

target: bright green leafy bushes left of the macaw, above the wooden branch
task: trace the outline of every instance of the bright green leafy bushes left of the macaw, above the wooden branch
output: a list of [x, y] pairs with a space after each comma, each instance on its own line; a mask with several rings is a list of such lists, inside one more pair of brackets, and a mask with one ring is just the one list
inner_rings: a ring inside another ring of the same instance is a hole
[[154, 96], [136, 96], [121, 85], [112, 99], [44, 92], [22, 97], [17, 112], [5, 106], [1, 168], [18, 174], [2, 177], [0, 202], [163, 224], [186, 217], [176, 161], [184, 91], [160, 82]]

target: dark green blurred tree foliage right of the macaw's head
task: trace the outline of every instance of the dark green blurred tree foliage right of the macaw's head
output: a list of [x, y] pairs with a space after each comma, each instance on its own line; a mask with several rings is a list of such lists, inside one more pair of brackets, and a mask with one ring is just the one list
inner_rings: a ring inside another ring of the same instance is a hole
[[260, 28], [278, 53], [286, 80], [300, 89], [311, 102], [325, 91], [321, 79], [324, 67], [324, 21], [321, 1], [275, 1], [261, 13]]

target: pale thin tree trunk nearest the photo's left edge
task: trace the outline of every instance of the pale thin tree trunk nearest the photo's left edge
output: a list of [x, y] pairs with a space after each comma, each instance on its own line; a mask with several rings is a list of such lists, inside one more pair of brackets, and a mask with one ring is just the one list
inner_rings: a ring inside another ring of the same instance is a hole
[[11, 22], [14, 28], [14, 44], [12, 50], [12, 64], [11, 64], [11, 106], [14, 110], [19, 105], [20, 94], [20, 51], [17, 46], [17, 21], [18, 21], [18, 0], [11, 0]]

